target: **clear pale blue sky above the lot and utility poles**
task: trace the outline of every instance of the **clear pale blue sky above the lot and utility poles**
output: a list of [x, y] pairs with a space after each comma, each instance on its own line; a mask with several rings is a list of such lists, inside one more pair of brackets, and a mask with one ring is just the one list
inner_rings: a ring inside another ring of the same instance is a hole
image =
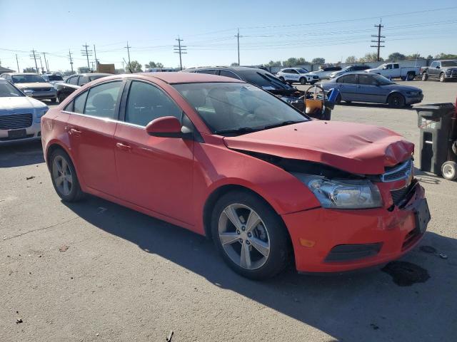
[[[100, 63], [122, 67], [128, 61], [179, 66], [176, 38], [187, 53], [183, 66], [241, 65], [283, 61], [289, 57], [326, 58], [327, 62], [361, 57], [371, 48], [374, 25], [390, 53], [457, 54], [457, 1], [54, 1], [0, 0], [1, 66], [34, 66], [32, 49], [52, 71], [87, 66], [81, 55], [89, 45]], [[94, 61], [91, 56], [89, 62]], [[40, 62], [38, 62], [40, 67]]]

